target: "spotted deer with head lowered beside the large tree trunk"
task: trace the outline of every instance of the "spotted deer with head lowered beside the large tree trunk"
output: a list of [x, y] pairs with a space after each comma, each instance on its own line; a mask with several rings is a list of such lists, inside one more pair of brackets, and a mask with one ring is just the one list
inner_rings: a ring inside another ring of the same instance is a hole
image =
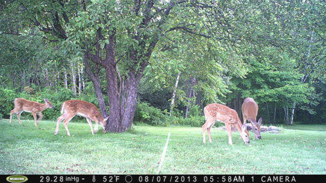
[[[103, 133], [106, 133], [105, 126], [109, 116], [103, 119], [102, 114], [98, 111], [97, 107], [92, 103], [88, 103], [86, 101], [78, 101], [78, 100], [65, 101], [64, 103], [61, 104], [60, 112], [62, 116], [58, 117], [57, 128], [55, 129], [54, 135], [58, 134], [59, 125], [61, 121], [65, 119], [63, 123], [65, 125], [68, 136], [70, 136], [68, 123], [76, 115], [83, 116], [86, 118], [86, 121], [91, 128], [92, 134], [94, 134], [94, 132], [98, 132], [98, 122], [101, 123], [101, 126], [103, 128]], [[92, 121], [95, 121], [94, 130], [93, 130]]]

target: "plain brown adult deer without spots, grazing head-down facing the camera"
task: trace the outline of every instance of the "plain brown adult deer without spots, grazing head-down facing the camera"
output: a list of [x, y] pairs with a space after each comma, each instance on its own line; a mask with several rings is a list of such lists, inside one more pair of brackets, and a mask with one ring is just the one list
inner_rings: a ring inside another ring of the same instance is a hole
[[258, 122], [256, 122], [257, 114], [258, 114], [258, 105], [253, 98], [246, 98], [243, 101], [241, 106], [242, 116], [243, 116], [243, 124], [246, 124], [247, 120], [252, 124], [252, 130], [255, 133], [255, 139], [261, 139], [260, 136], [260, 125], [261, 118], [259, 118]]

